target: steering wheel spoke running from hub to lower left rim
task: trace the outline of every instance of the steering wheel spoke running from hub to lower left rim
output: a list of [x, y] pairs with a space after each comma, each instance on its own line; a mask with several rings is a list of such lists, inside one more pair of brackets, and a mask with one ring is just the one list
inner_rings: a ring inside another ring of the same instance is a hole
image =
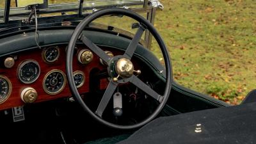
[[113, 82], [112, 80], [109, 81], [108, 88], [106, 89], [102, 99], [100, 100], [100, 104], [99, 104], [97, 110], [95, 111], [96, 115], [98, 115], [100, 117], [102, 116], [102, 113], [108, 106], [108, 102], [111, 99], [111, 97], [113, 96], [113, 93], [115, 92], [117, 85], [118, 84]]

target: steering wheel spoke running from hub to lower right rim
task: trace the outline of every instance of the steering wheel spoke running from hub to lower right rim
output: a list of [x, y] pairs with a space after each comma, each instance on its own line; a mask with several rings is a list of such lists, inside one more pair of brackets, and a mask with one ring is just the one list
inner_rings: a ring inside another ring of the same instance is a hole
[[153, 97], [156, 99], [159, 103], [163, 101], [163, 96], [159, 95], [157, 92], [152, 90], [147, 84], [145, 84], [143, 81], [141, 81], [138, 77], [132, 76], [130, 79], [130, 82], [140, 88], [140, 90], [143, 90], [143, 92], [147, 93], [150, 95], [150, 97]]

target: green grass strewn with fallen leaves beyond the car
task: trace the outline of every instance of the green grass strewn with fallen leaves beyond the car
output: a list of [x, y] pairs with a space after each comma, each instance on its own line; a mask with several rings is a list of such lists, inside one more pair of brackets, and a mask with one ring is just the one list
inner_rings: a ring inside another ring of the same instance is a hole
[[[64, 1], [70, 2], [49, 2]], [[170, 50], [175, 81], [239, 104], [256, 88], [256, 1], [159, 1], [164, 10], [157, 11], [155, 26]], [[114, 26], [120, 22], [102, 21]], [[126, 25], [130, 26], [121, 26]], [[160, 58], [156, 47], [154, 42], [152, 50]]]

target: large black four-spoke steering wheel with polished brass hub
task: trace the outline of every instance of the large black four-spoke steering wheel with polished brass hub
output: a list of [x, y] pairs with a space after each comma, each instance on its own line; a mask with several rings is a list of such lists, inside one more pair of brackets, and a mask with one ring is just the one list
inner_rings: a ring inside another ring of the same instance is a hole
[[[110, 57], [108, 54], [106, 54], [106, 52], [100, 49], [97, 45], [93, 44], [93, 42], [86, 38], [86, 36], [84, 36], [82, 33], [85, 26], [88, 26], [90, 22], [104, 15], [125, 15], [140, 22], [138, 31], [134, 35], [134, 38], [132, 38], [131, 43], [129, 44], [123, 55]], [[131, 58], [132, 55], [134, 54], [134, 51], [136, 50], [136, 47], [139, 44], [139, 40], [143, 35], [145, 29], [148, 29], [148, 31], [152, 33], [154, 38], [156, 38], [157, 43], [159, 44], [161, 51], [163, 53], [166, 67], [166, 86], [163, 95], [159, 95], [157, 92], [152, 90], [152, 88], [150, 88], [147, 84], [143, 83], [143, 81], [141, 81], [137, 76], [133, 74], [134, 67], [132, 65]], [[77, 40], [81, 40], [83, 44], [85, 44], [92, 52], [97, 54], [97, 56], [99, 56], [99, 58], [101, 58], [108, 66], [108, 74], [110, 80], [108, 87], [106, 88], [106, 91], [102, 96], [102, 99], [100, 100], [97, 111], [92, 111], [90, 108], [88, 108], [88, 106], [86, 106], [83, 99], [80, 97], [79, 92], [76, 88], [76, 84], [74, 82], [72, 60], [74, 54], [74, 47], [76, 45]], [[113, 127], [116, 129], [134, 129], [147, 124], [152, 119], [154, 119], [163, 109], [170, 95], [170, 90], [172, 86], [172, 65], [170, 61], [170, 56], [168, 54], [168, 49], [166, 48], [163, 39], [161, 38], [159, 33], [157, 33], [157, 30], [154, 28], [154, 26], [150, 22], [148, 22], [148, 20], [144, 19], [137, 13], [132, 12], [131, 10], [126, 10], [124, 8], [106, 8], [99, 10], [95, 13], [92, 13], [91, 15], [83, 19], [77, 25], [76, 29], [74, 30], [74, 33], [72, 34], [72, 37], [67, 47], [66, 58], [67, 79], [72, 95], [77, 100], [77, 102], [82, 106], [82, 108], [86, 112], [88, 112], [93, 118], [95, 118], [95, 120], [109, 127]], [[118, 84], [122, 83], [132, 83], [138, 88], [140, 88], [140, 90], [147, 93], [147, 95], [156, 99], [159, 102], [159, 106], [156, 108], [154, 113], [145, 118], [145, 120], [132, 125], [118, 125], [104, 120], [102, 118], [102, 113], [104, 112], [104, 109], [106, 109], [106, 106], [108, 105], [108, 102], [111, 99], [111, 97], [113, 97], [113, 93], [115, 92], [116, 87], [118, 86]]]

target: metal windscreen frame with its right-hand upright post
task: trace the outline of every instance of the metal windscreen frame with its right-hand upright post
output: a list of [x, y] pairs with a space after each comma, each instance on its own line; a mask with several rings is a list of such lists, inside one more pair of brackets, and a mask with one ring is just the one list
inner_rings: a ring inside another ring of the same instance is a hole
[[[29, 26], [33, 26], [33, 24], [25, 24], [23, 21], [28, 19], [29, 14], [31, 13], [31, 11], [25, 10], [25, 8], [10, 8], [10, 0], [5, 0], [6, 2], [9, 1], [9, 5], [6, 6], [6, 11], [5, 13], [8, 13], [8, 15], [0, 15], [0, 19], [4, 18], [4, 22], [3, 20], [0, 21], [0, 31], [3, 33], [8, 33], [9, 30], [6, 29], [12, 29], [12, 31], [15, 31], [15, 29], [21, 29], [21, 27], [24, 26], [24, 28], [29, 28]], [[83, 0], [79, 0], [79, 2], [81, 3]], [[132, 10], [136, 13], [146, 13], [146, 19], [154, 25], [154, 20], [156, 17], [156, 11], [157, 10], [163, 10], [163, 5], [161, 3], [157, 3], [157, 4], [153, 4], [151, 0], [124, 0], [125, 2], [130, 2], [130, 3], [120, 3], [120, 1], [118, 1], [119, 3], [116, 4], [111, 4], [111, 5], [105, 5], [105, 6], [98, 6], [96, 4], [96, 6], [84, 6], [85, 3], [93, 3], [96, 1], [90, 1], [90, 0], [84, 0], [86, 2], [84, 2], [83, 4], [80, 3], [76, 3], [76, 8], [67, 8], [67, 9], [59, 9], [59, 10], [46, 10], [42, 9], [42, 10], [37, 10], [36, 13], [38, 14], [45, 14], [45, 13], [60, 13], [61, 15], [52, 15], [49, 17], [55, 17], [56, 19], [62, 19], [63, 17], [72, 17], [72, 19], [84, 19], [84, 17], [86, 17], [86, 15], [93, 13], [93, 9], [96, 10], [100, 10], [101, 8], [114, 8], [114, 7], [119, 7], [119, 8], [127, 8], [129, 10]], [[97, 0], [99, 1], [99, 0]], [[109, 1], [109, 0], [103, 0], [103, 1]], [[134, 1], [138, 1], [138, 2], [134, 2]], [[68, 3], [70, 4], [70, 3]], [[49, 5], [49, 7], [51, 6], [65, 6], [67, 4], [53, 4], [53, 5]], [[81, 6], [82, 5], [82, 6]], [[10, 13], [13, 10], [18, 10], [19, 13]], [[23, 12], [22, 12], [23, 10]], [[81, 10], [89, 10], [88, 12], [83, 12], [83, 15], [79, 15], [79, 11]], [[3, 11], [3, 10], [2, 10]], [[25, 12], [24, 12], [25, 11]], [[72, 13], [72, 14], [68, 14], [68, 15], [62, 15], [62, 12], [76, 12], [76, 14]], [[1, 13], [0, 13], [1, 14]], [[40, 17], [39, 19], [41, 20], [47, 20], [47, 19], [51, 19], [49, 17]], [[62, 18], [61, 18], [62, 17]], [[57, 20], [58, 21], [58, 20]], [[5, 35], [5, 34], [3, 34]], [[7, 35], [7, 34], [6, 34]], [[1, 36], [1, 34], [0, 34]], [[146, 47], [148, 49], [150, 49], [151, 47], [151, 43], [152, 43], [152, 35], [149, 33], [148, 30], [145, 31], [145, 44]]]

